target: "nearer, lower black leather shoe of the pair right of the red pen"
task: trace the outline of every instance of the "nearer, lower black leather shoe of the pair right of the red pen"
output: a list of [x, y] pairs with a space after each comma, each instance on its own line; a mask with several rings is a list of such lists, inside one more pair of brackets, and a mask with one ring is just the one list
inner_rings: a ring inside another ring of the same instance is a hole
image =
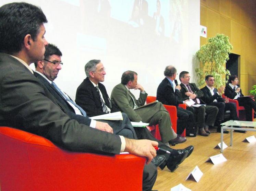
[[[188, 151], [185, 149], [180, 149], [177, 150], [178, 154], [176, 155], [171, 155], [166, 163], [167, 168], [171, 171], [174, 172], [176, 168], [179, 167], [179, 164], [181, 164], [187, 157]], [[161, 168], [161, 165], [159, 166]], [[164, 168], [164, 166], [163, 166]], [[161, 169], [163, 169], [161, 168]]]

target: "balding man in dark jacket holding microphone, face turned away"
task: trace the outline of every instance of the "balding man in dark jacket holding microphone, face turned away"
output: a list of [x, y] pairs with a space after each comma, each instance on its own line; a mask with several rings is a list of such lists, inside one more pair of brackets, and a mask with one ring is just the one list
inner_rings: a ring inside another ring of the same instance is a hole
[[[192, 129], [195, 126], [193, 110], [188, 111], [179, 107], [179, 103], [182, 101], [180, 94], [180, 85], [176, 85], [174, 80], [177, 75], [177, 70], [169, 65], [164, 70], [164, 76], [166, 76], [157, 88], [157, 100], [165, 105], [174, 105], [177, 108], [177, 134], [180, 135], [187, 127]], [[188, 107], [190, 109], [190, 107]]]

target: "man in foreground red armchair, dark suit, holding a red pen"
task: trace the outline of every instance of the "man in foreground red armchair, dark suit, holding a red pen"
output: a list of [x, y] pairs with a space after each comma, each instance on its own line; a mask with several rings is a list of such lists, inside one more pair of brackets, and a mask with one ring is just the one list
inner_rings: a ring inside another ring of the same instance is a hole
[[34, 76], [29, 64], [44, 59], [47, 19], [28, 3], [0, 7], [0, 126], [9, 126], [50, 139], [71, 151], [118, 154], [128, 151], [147, 157], [143, 190], [151, 190], [157, 176], [150, 140], [134, 140], [90, 128], [65, 114], [65, 108]]

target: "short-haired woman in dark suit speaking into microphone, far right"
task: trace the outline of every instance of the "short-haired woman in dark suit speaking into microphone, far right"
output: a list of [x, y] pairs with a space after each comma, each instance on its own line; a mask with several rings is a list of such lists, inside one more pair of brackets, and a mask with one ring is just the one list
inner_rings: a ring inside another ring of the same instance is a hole
[[240, 106], [244, 106], [246, 121], [253, 121], [252, 109], [256, 111], [256, 103], [249, 97], [241, 98], [244, 97], [244, 95], [238, 85], [238, 78], [236, 75], [231, 75], [229, 77], [229, 83], [226, 85], [224, 93], [228, 98], [237, 100]]

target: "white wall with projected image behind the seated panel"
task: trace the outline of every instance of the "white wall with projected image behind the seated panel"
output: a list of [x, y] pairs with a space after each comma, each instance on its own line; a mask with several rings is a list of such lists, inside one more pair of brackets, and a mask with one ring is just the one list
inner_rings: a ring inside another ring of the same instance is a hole
[[[60, 48], [64, 63], [54, 82], [73, 99], [85, 78], [84, 65], [91, 59], [100, 59], [106, 68], [103, 84], [109, 96], [126, 70], [138, 73], [138, 83], [149, 95], [156, 95], [164, 68], [169, 64], [178, 73], [190, 72], [191, 81], [195, 82], [200, 1], [160, 0], [164, 19], [160, 36], [153, 18], [156, 0], [143, 0], [144, 12], [136, 8], [131, 19], [137, 1], [25, 0], [40, 6], [48, 19], [45, 37]], [[0, 6], [10, 2], [13, 1], [2, 0]], [[34, 69], [32, 64], [31, 67]], [[134, 92], [138, 93], [139, 90]]]

